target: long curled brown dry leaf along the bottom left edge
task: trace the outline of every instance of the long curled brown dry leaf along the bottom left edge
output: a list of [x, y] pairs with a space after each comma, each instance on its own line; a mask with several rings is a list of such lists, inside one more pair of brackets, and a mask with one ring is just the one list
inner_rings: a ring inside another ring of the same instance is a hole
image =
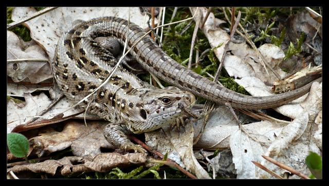
[[40, 163], [26, 165], [15, 165], [10, 170], [14, 173], [33, 172], [48, 173], [51, 175], [67, 176], [71, 174], [81, 174], [83, 172], [108, 172], [113, 168], [129, 164], [143, 164], [147, 161], [147, 156], [141, 153], [128, 153], [125, 155], [118, 153], [103, 153], [94, 158], [82, 158], [76, 156], [64, 157], [59, 160], [46, 160]]

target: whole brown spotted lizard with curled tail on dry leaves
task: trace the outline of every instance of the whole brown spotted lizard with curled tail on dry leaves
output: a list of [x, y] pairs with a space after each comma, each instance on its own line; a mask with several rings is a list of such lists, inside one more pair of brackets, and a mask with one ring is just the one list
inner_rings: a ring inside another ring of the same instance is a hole
[[[127, 39], [129, 49], [144, 34], [139, 26], [119, 17], [77, 22], [61, 36], [52, 63], [54, 77], [65, 96], [78, 102], [107, 78], [117, 63], [117, 45], [108, 46], [113, 38], [121, 45]], [[230, 103], [235, 108], [261, 109], [293, 101], [306, 94], [311, 85], [274, 96], [245, 96], [181, 66], [149, 35], [133, 47], [131, 54], [145, 69], [178, 88], [150, 88], [120, 67], [94, 97], [84, 101], [84, 107], [90, 102], [87, 111], [111, 122], [104, 129], [106, 140], [126, 150], [145, 152], [126, 137], [128, 133], [149, 132], [169, 124], [184, 125], [188, 115], [185, 110], [195, 102], [193, 94], [216, 103]]]

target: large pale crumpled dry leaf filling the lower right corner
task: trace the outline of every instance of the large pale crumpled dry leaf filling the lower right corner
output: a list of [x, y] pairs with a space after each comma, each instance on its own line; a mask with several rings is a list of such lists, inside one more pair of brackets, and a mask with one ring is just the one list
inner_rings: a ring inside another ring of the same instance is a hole
[[[316, 127], [315, 123], [319, 122], [319, 120], [316, 120], [316, 117], [321, 116], [320, 112], [322, 111], [322, 99], [319, 99], [320, 94], [322, 95], [322, 83], [314, 83], [307, 99], [317, 100], [317, 102], [305, 103], [304, 111], [292, 123], [283, 128], [282, 133], [278, 135], [278, 138], [265, 152], [265, 156], [270, 156], [305, 175], [310, 174], [305, 164], [308, 152], [313, 151], [317, 154], [322, 154], [319, 141], [317, 140], [322, 138], [322, 129]], [[322, 144], [320, 145], [322, 146]], [[266, 160], [262, 160], [261, 163], [279, 175], [284, 173], [278, 166]], [[262, 170], [258, 170], [257, 175], [258, 178], [272, 178]], [[292, 178], [299, 177], [294, 175]]]

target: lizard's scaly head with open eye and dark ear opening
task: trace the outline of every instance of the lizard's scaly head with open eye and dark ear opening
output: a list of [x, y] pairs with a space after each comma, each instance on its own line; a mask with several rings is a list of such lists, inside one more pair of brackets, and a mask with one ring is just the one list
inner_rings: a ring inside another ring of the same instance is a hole
[[183, 107], [190, 109], [195, 103], [194, 95], [176, 87], [151, 90], [142, 97], [141, 122], [132, 124], [134, 133], [149, 132], [171, 124], [183, 115]]

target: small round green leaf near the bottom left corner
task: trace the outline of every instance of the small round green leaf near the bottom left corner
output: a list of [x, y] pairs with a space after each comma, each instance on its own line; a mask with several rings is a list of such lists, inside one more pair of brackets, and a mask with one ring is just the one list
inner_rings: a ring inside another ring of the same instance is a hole
[[17, 158], [26, 157], [29, 151], [29, 141], [19, 133], [7, 134], [7, 145], [9, 151]]

